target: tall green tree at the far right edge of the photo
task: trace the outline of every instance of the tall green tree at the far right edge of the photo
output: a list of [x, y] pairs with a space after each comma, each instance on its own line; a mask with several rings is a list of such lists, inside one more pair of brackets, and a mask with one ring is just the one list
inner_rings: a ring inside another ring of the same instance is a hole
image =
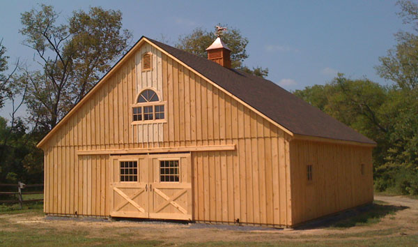
[[397, 5], [398, 15], [415, 33], [396, 33], [398, 43], [376, 67], [380, 77], [395, 82], [384, 107], [392, 127], [385, 169], [392, 171], [402, 193], [418, 194], [418, 3], [401, 0]]

